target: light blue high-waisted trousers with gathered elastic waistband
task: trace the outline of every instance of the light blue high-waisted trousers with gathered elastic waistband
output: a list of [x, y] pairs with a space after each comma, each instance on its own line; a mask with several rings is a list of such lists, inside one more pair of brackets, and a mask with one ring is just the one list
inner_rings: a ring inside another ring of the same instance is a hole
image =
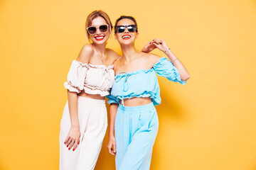
[[119, 105], [114, 122], [117, 170], [148, 170], [159, 128], [153, 103], [144, 106]]

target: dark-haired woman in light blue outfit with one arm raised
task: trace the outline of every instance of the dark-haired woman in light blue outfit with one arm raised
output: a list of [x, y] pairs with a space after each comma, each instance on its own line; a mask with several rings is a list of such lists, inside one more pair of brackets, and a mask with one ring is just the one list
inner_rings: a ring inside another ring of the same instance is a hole
[[186, 84], [189, 74], [164, 40], [154, 39], [143, 49], [158, 48], [169, 58], [140, 52], [134, 47], [137, 22], [121, 16], [114, 26], [114, 37], [122, 57], [114, 62], [115, 81], [110, 96], [110, 134], [107, 148], [115, 155], [118, 170], [149, 169], [159, 127], [154, 106], [161, 103], [156, 74]]

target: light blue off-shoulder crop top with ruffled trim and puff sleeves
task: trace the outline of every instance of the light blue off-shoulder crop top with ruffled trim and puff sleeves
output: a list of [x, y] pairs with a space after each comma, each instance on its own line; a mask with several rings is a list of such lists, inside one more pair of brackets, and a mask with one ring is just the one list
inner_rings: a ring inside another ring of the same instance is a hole
[[124, 98], [133, 97], [150, 97], [154, 106], [161, 103], [159, 82], [156, 73], [161, 77], [166, 77], [170, 81], [186, 84], [186, 81], [181, 80], [178, 69], [174, 64], [167, 60], [166, 57], [159, 59], [151, 69], [139, 69], [134, 72], [119, 72], [114, 77], [114, 84], [107, 96], [107, 103], [120, 103]]

